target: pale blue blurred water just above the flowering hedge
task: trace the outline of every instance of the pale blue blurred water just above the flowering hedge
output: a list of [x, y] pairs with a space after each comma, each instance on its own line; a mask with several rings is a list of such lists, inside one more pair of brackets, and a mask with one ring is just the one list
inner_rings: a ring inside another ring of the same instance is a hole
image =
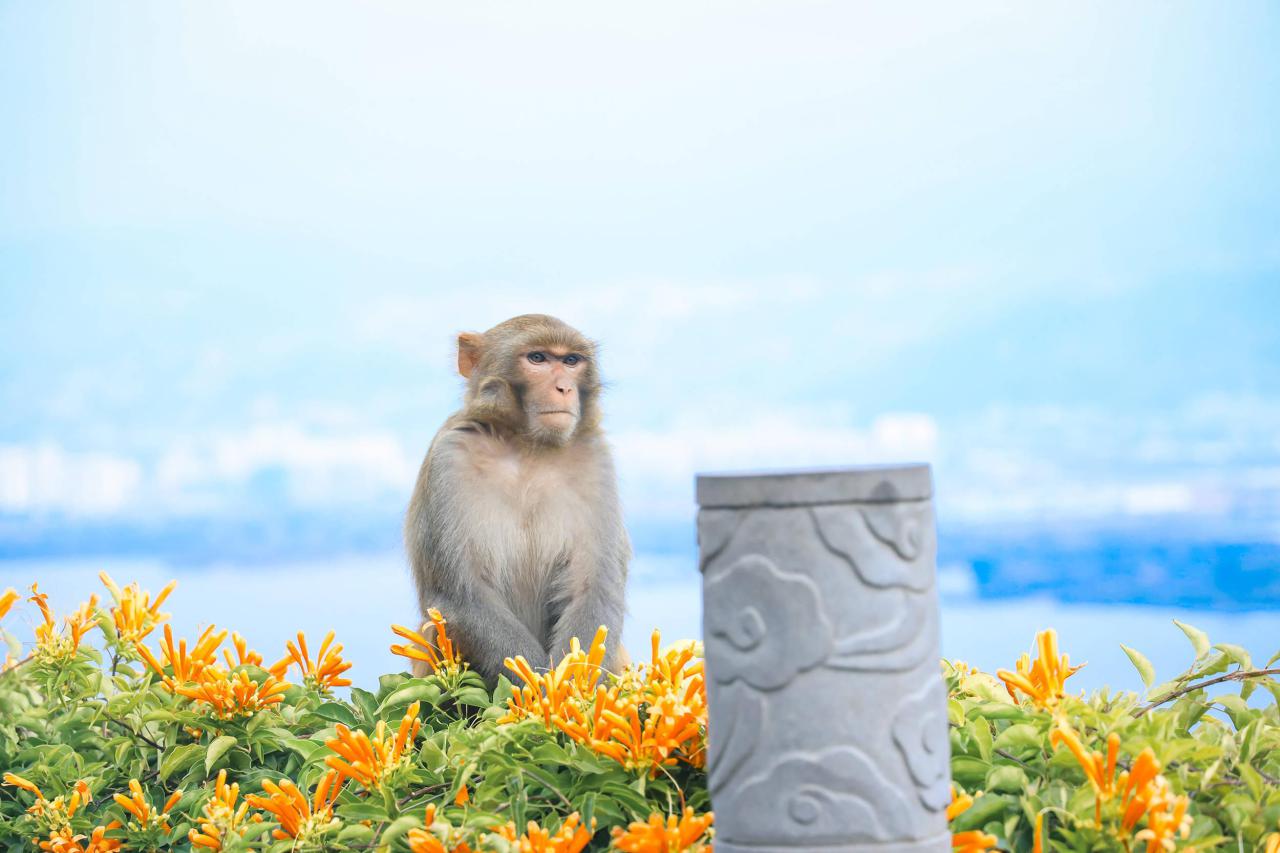
[[[312, 649], [328, 630], [337, 631], [344, 656], [355, 662], [357, 685], [372, 684], [383, 672], [403, 669], [388, 646], [392, 622], [416, 616], [412, 583], [399, 555], [340, 557], [323, 564], [271, 566], [214, 565], [175, 570], [160, 561], [4, 561], [0, 588], [26, 590], [38, 581], [59, 612], [91, 593], [108, 593], [97, 580], [105, 569], [118, 583], [137, 580], [152, 593], [169, 579], [178, 589], [166, 602], [179, 635], [193, 637], [210, 622], [241, 631], [270, 662], [298, 630]], [[942, 652], [987, 671], [1010, 666], [1029, 649], [1037, 630], [1056, 628], [1073, 662], [1087, 662], [1071, 680], [1076, 689], [1103, 685], [1135, 688], [1138, 678], [1120, 644], [1138, 648], [1156, 666], [1160, 680], [1190, 662], [1190, 644], [1174, 619], [1207, 631], [1213, 642], [1249, 649], [1261, 663], [1280, 648], [1280, 613], [1219, 612], [1134, 605], [1065, 605], [1048, 598], [995, 599], [974, 597], [963, 569], [943, 567]], [[20, 606], [4, 628], [24, 642], [31, 638], [35, 608]], [[691, 560], [640, 555], [628, 589], [623, 642], [634, 657], [646, 654], [649, 637], [660, 629], [666, 640], [701, 634], [700, 580]]]

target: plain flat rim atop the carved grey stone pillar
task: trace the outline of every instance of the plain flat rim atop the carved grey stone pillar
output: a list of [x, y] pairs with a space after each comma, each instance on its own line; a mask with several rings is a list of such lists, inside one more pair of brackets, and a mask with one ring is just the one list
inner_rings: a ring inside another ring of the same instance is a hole
[[927, 462], [724, 471], [698, 474], [695, 491], [703, 510], [899, 503], [931, 501], [933, 474]]

